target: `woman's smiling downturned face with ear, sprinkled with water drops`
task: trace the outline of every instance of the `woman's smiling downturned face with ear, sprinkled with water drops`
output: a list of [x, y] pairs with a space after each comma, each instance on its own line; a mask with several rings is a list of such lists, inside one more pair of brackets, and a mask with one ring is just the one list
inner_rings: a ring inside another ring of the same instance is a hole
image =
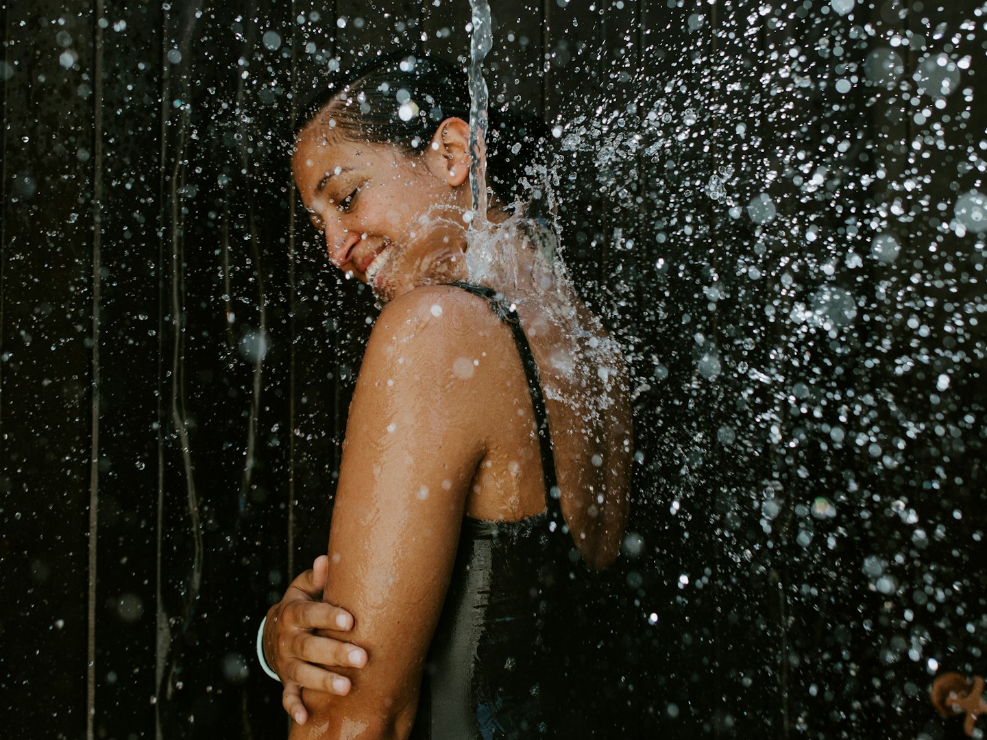
[[470, 206], [469, 126], [443, 121], [420, 156], [331, 130], [326, 113], [302, 129], [291, 169], [333, 264], [384, 300], [458, 276]]

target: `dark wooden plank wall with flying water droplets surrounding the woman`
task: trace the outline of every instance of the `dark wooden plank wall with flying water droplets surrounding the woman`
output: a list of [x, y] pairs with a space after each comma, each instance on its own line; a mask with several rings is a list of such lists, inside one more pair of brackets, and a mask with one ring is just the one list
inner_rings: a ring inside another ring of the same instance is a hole
[[[325, 548], [375, 315], [291, 120], [368, 50], [461, 57], [468, 5], [0, 13], [0, 735], [282, 736], [256, 629]], [[956, 736], [927, 692], [987, 670], [987, 15], [493, 17], [492, 98], [560, 126], [569, 265], [636, 376], [603, 736]]]

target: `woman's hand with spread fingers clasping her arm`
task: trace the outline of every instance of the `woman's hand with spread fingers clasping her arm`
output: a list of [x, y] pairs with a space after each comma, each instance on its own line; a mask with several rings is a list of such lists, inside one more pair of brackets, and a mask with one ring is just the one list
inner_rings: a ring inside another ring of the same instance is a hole
[[352, 615], [322, 602], [328, 570], [329, 557], [316, 557], [312, 569], [291, 581], [281, 600], [267, 611], [264, 654], [281, 677], [284, 710], [298, 724], [308, 719], [302, 689], [344, 696], [349, 693], [349, 679], [327, 669], [362, 668], [367, 662], [366, 651], [358, 645], [316, 633], [317, 629], [353, 628]]

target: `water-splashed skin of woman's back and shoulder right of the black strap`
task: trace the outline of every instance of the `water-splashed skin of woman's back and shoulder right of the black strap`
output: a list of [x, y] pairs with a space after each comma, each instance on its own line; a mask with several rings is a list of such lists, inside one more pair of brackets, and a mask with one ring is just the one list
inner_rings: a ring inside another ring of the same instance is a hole
[[617, 555], [633, 454], [627, 366], [619, 343], [572, 288], [555, 232], [513, 216], [471, 232], [471, 282], [514, 304], [538, 364], [562, 508], [583, 558]]

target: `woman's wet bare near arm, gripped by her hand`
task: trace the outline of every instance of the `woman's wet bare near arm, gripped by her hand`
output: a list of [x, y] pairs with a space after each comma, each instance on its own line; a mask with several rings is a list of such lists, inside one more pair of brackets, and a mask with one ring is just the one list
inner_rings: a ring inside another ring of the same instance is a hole
[[402, 296], [367, 345], [346, 428], [325, 600], [358, 616], [344, 637], [369, 661], [358, 676], [347, 674], [344, 697], [305, 692], [312, 721], [294, 726], [293, 739], [411, 731], [468, 487], [484, 455], [482, 414], [472, 410], [483, 381], [453, 373], [469, 333], [476, 341], [473, 309], [454, 291]]

